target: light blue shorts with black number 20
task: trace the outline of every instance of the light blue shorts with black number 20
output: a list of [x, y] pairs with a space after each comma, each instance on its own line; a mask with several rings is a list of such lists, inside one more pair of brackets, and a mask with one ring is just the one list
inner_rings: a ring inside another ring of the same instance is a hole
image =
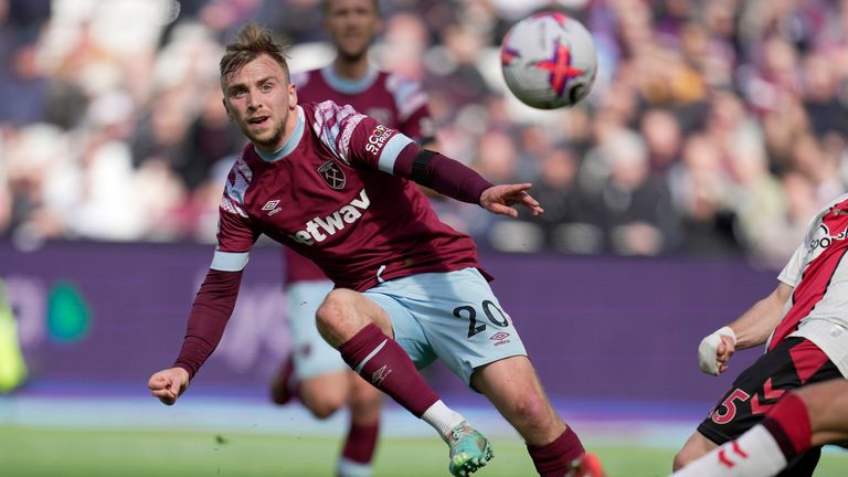
[[512, 319], [477, 268], [398, 278], [364, 296], [389, 314], [395, 341], [418, 369], [438, 358], [470, 385], [475, 368], [527, 356]]

